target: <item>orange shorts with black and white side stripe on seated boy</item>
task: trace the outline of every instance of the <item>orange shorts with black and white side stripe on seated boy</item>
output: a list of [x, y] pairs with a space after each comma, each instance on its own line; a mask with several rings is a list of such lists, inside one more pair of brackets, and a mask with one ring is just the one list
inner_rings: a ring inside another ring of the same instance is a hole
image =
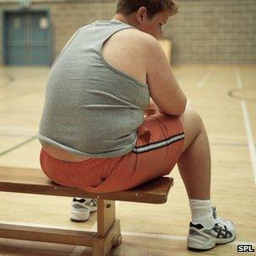
[[136, 147], [122, 157], [67, 163], [42, 150], [41, 168], [56, 184], [96, 193], [131, 189], [170, 173], [183, 150], [184, 131], [179, 117], [150, 115], [137, 136]]

